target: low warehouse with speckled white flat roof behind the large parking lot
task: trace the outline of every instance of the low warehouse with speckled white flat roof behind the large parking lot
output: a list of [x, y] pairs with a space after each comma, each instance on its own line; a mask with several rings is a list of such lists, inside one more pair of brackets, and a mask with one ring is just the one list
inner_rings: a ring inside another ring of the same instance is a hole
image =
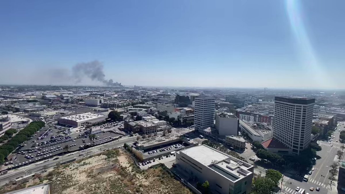
[[97, 113], [83, 113], [78, 115], [71, 115], [67, 117], [61, 117], [58, 120], [59, 124], [69, 125], [72, 127], [80, 127], [90, 123], [102, 122], [107, 117]]

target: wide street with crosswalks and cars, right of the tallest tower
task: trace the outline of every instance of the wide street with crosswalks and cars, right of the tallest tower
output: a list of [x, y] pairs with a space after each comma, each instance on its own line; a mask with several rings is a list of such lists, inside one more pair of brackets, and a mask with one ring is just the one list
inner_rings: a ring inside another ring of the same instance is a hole
[[[342, 125], [344, 122], [341, 122], [341, 125], [337, 127], [340, 130], [345, 130]], [[340, 133], [336, 130], [333, 135], [335, 136], [329, 144], [324, 141], [317, 141], [317, 143], [322, 147], [321, 151], [317, 152], [316, 164], [312, 167], [315, 168], [315, 171], [312, 171], [312, 174], [309, 176], [308, 182], [303, 181], [303, 176], [293, 176], [293, 177], [284, 177], [283, 178], [283, 190], [282, 193], [295, 194], [297, 191], [296, 187], [304, 188], [308, 193], [314, 193], [315, 188], [319, 187], [320, 191], [318, 194], [337, 194], [336, 187], [330, 185], [328, 179], [330, 166], [334, 162], [338, 162], [337, 151], [342, 150], [342, 143], [339, 143]], [[336, 142], [337, 140], [337, 142]], [[332, 145], [332, 146], [331, 146]], [[291, 184], [290, 184], [291, 183]], [[310, 187], [314, 187], [314, 192], [309, 191]]]

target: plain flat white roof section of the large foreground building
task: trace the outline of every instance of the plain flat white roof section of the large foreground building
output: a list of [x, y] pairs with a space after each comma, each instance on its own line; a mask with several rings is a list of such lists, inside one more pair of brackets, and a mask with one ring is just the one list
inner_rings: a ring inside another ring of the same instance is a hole
[[205, 145], [194, 146], [194, 147], [182, 150], [180, 152], [188, 155], [189, 157], [195, 159], [201, 164], [204, 164], [205, 166], [208, 166], [211, 163], [214, 163], [215, 161], [221, 161], [226, 158], [229, 158], [229, 156], [221, 152], [218, 152], [214, 149], [211, 149], [209, 147], [206, 147]]

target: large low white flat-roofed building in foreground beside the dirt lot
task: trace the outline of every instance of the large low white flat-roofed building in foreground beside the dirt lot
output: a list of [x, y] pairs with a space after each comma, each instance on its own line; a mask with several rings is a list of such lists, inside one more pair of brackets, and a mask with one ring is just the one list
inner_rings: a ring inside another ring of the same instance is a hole
[[254, 166], [206, 145], [176, 152], [176, 165], [220, 194], [250, 193]]

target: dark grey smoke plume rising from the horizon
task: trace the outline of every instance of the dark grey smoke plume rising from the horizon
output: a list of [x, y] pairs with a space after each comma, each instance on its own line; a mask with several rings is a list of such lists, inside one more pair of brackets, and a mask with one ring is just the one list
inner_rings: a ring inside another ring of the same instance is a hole
[[103, 64], [99, 61], [78, 63], [72, 68], [72, 75], [77, 83], [80, 83], [83, 76], [91, 78], [91, 80], [100, 81], [107, 86], [121, 86], [121, 83], [115, 82], [112, 79], [106, 80], [103, 73]]

